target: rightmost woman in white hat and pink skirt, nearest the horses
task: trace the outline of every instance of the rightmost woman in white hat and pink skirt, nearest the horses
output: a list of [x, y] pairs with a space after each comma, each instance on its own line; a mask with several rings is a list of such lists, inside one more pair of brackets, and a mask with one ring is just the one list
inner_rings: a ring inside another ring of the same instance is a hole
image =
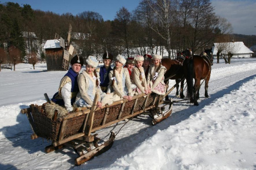
[[165, 66], [161, 65], [161, 55], [153, 55], [154, 65], [151, 66], [147, 75], [147, 85], [150, 85], [151, 91], [163, 95], [166, 87], [164, 81]]

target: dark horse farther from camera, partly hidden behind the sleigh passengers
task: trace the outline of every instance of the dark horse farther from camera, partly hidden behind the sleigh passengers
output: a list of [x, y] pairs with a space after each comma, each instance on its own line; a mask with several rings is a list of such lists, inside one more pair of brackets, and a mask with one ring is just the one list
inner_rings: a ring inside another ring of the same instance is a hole
[[[168, 84], [169, 79], [175, 80], [177, 84], [181, 79], [184, 78], [184, 72], [182, 68], [183, 61], [184, 61], [184, 57], [180, 56], [179, 53], [178, 53], [177, 59], [175, 60], [172, 60], [169, 58], [163, 58], [161, 60], [161, 64], [166, 68], [166, 72], [164, 74], [165, 84]], [[181, 86], [180, 86], [180, 98], [182, 99], [184, 98], [183, 87], [184, 87], [184, 79], [181, 81]], [[176, 96], [179, 96], [179, 84], [177, 84], [176, 86]], [[165, 96], [165, 100], [166, 101], [169, 100], [168, 95]]]

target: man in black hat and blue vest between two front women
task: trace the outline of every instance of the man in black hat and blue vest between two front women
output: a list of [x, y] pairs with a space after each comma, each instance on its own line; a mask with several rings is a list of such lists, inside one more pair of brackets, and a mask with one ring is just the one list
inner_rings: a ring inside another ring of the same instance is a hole
[[109, 72], [113, 70], [111, 68], [112, 61], [113, 61], [113, 55], [108, 52], [105, 52], [103, 54], [104, 65], [95, 69], [100, 79], [100, 88], [103, 92], [106, 92], [106, 90], [108, 90], [108, 85], [110, 82]]

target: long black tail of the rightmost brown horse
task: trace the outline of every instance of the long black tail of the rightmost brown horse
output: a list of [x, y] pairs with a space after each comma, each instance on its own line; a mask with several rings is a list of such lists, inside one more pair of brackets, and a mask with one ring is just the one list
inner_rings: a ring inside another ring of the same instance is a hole
[[188, 99], [193, 97], [193, 78], [194, 78], [194, 66], [193, 59], [188, 59], [187, 61], [187, 91], [188, 91]]

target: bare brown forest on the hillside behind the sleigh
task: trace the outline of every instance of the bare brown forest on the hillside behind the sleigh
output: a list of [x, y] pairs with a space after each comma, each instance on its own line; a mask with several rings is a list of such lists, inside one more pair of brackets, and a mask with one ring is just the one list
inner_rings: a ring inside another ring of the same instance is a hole
[[[4, 53], [11, 56], [11, 49], [17, 48], [22, 57], [37, 54], [44, 59], [41, 44], [56, 37], [67, 39], [70, 26], [71, 43], [84, 58], [105, 51], [113, 55], [125, 52], [129, 57], [129, 49], [135, 47], [140, 55], [152, 55], [155, 46], [162, 54], [165, 47], [170, 57], [175, 56], [174, 50], [185, 48], [200, 53], [214, 42], [243, 41], [248, 47], [256, 44], [255, 35], [232, 34], [230, 23], [214, 13], [210, 0], [141, 0], [136, 10], [122, 7], [114, 20], [106, 21], [93, 11], [59, 15], [8, 2], [0, 4], [0, 25], [0, 57]], [[8, 60], [1, 58], [0, 64]]]

